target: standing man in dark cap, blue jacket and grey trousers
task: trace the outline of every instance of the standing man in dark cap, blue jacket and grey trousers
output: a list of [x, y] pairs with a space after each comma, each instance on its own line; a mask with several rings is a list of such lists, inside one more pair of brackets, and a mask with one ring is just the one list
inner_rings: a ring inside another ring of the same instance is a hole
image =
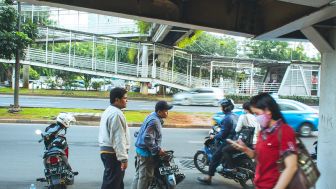
[[155, 112], [149, 114], [141, 125], [135, 142], [136, 174], [132, 189], [148, 189], [153, 180], [155, 158], [165, 154], [161, 148], [162, 119], [168, 117], [168, 110], [172, 108], [166, 101], [157, 102]]

